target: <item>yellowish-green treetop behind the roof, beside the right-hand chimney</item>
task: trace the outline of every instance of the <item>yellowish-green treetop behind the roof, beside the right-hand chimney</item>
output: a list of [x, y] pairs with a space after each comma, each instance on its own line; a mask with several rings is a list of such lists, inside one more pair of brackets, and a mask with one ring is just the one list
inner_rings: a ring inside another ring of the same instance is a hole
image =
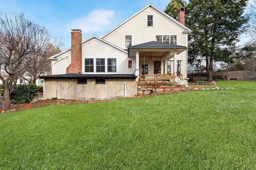
[[166, 6], [166, 10], [164, 10], [164, 12], [176, 19], [178, 17], [178, 10], [182, 7], [186, 8], [186, 2], [184, 0], [171, 0], [168, 6]]

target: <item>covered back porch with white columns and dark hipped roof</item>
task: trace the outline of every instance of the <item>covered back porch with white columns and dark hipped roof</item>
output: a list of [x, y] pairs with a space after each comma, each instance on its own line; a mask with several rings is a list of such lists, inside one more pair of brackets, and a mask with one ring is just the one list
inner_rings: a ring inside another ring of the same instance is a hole
[[[138, 78], [156, 78], [159, 76], [163, 78], [163, 74], [177, 77], [186, 72], [185, 67], [180, 67], [180, 62], [186, 62], [186, 59], [185, 61], [184, 59], [178, 60], [178, 54], [186, 51], [186, 49], [187, 47], [180, 45], [150, 41], [128, 47], [128, 56], [136, 59], [134, 74]], [[186, 65], [186, 63], [183, 64]], [[183, 74], [183, 76], [186, 76], [186, 74]]]

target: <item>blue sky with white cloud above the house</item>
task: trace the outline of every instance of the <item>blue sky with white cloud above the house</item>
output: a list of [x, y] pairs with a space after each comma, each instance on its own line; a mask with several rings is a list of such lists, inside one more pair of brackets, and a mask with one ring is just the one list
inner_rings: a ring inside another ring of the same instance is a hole
[[[62, 37], [70, 47], [71, 29], [81, 29], [82, 39], [104, 35], [122, 21], [153, 4], [164, 11], [170, 0], [0, 0], [0, 12], [24, 12]], [[243, 35], [243, 40], [246, 35]], [[62, 50], [63, 50], [62, 49]]]

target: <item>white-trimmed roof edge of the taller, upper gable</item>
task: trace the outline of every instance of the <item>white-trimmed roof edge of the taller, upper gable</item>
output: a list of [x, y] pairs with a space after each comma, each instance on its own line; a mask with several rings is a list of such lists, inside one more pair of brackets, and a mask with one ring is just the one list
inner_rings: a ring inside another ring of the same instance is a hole
[[114, 32], [116, 29], [122, 27], [122, 25], [126, 24], [127, 22], [129, 22], [130, 20], [133, 20], [134, 18], [136, 18], [138, 15], [142, 14], [144, 11], [146, 11], [148, 8], [151, 8], [152, 10], [154, 10], [156, 13], [158, 13], [159, 15], [161, 15], [162, 17], [164, 17], [166, 20], [172, 22], [174, 25], [176, 25], [177, 27], [179, 27], [180, 29], [183, 30], [184, 33], [191, 33], [192, 30], [189, 29], [188, 27], [186, 27], [185, 25], [183, 25], [182, 23], [180, 23], [179, 21], [175, 20], [174, 18], [170, 17], [168, 14], [164, 13], [163, 11], [161, 11], [160, 9], [156, 8], [154, 5], [152, 4], [148, 4], [146, 7], [144, 7], [142, 10], [140, 10], [139, 12], [137, 12], [136, 14], [134, 14], [133, 16], [131, 16], [130, 18], [128, 18], [127, 20], [123, 21], [122, 23], [120, 23], [119, 25], [117, 25], [116, 27], [114, 27], [113, 29], [111, 29], [110, 31], [108, 31], [108, 33], [104, 34], [101, 36], [102, 39], [104, 39], [105, 37], [107, 37], [109, 34], [111, 34], [112, 32]]

